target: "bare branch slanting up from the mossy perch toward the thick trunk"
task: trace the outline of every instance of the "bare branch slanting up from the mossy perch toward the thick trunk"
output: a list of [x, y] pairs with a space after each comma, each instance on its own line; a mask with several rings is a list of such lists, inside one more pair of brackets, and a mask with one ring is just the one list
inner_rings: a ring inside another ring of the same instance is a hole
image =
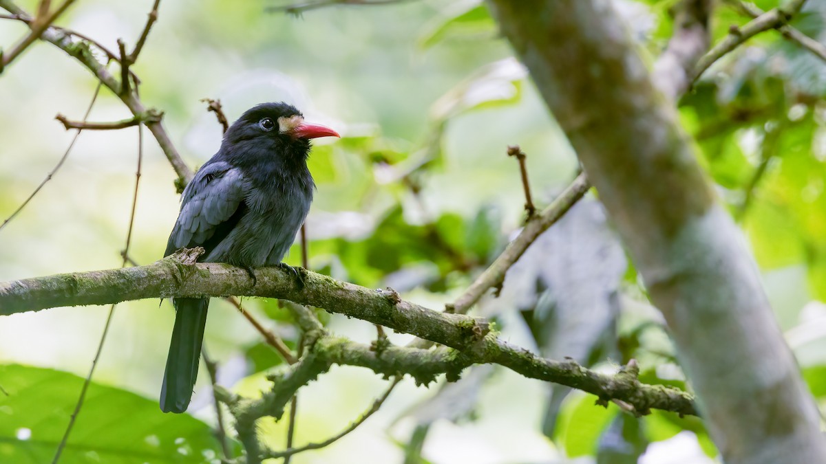
[[528, 249], [530, 244], [534, 243], [534, 240], [540, 234], [548, 230], [548, 227], [555, 224], [571, 209], [588, 192], [589, 188], [591, 188], [591, 184], [586, 179], [585, 174], [580, 174], [550, 206], [539, 213], [534, 220], [529, 221], [525, 225], [525, 229], [508, 244], [499, 258], [496, 258], [496, 261], [473, 281], [468, 290], [462, 296], [459, 296], [453, 305], [447, 305], [445, 309], [449, 312], [464, 314], [482, 298], [487, 289], [500, 286], [505, 281], [505, 274], [510, 266], [516, 263], [522, 253], [525, 253], [525, 250]]

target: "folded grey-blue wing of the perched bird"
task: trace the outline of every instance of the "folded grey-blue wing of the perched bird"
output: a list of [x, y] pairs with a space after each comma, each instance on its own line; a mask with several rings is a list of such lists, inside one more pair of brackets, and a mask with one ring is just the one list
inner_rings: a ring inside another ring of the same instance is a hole
[[175, 250], [202, 246], [207, 254], [244, 215], [244, 177], [229, 163], [208, 163], [183, 192], [181, 212], [164, 256]]

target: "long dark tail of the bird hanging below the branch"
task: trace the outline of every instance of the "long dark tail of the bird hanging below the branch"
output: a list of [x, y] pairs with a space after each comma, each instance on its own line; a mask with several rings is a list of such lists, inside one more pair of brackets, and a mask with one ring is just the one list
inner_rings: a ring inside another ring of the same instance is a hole
[[209, 298], [176, 298], [173, 303], [175, 328], [160, 389], [160, 409], [164, 413], [183, 413], [192, 399], [198, 376]]

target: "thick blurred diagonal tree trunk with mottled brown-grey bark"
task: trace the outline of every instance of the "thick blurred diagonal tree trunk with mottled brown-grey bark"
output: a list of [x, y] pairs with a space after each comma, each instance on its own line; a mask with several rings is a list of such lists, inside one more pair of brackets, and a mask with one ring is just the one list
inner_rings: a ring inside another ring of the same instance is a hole
[[666, 316], [730, 464], [826, 462], [748, 249], [608, 0], [489, 0]]

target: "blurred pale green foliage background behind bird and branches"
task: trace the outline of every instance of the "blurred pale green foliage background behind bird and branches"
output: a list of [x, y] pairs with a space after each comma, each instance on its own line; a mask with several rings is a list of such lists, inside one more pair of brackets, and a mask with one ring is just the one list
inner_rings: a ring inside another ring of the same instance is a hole
[[[21, 3], [30, 10], [36, 5]], [[729, 2], [718, 3], [714, 40], [749, 21]], [[80, 0], [61, 21], [109, 46], [120, 36], [128, 43], [150, 4]], [[652, 59], [672, 35], [677, 4], [615, 2]], [[767, 10], [778, 2], [755, 4]], [[824, 10], [826, 1], [809, 0], [791, 25], [824, 41]], [[22, 31], [0, 22], [0, 44], [12, 44]], [[363, 286], [392, 286], [433, 308], [472, 282], [524, 220], [519, 171], [506, 157], [507, 144], [519, 143], [528, 154], [540, 206], [577, 169], [524, 67], [477, 1], [330, 7], [295, 18], [263, 14], [259, 2], [164, 0], [133, 69], [141, 96], [165, 111], [164, 122], [192, 166], [221, 140], [214, 117], [198, 103], [202, 97], [221, 98], [230, 120], [260, 101], [284, 99], [308, 119], [340, 127], [344, 137], [316, 144], [309, 162], [319, 187], [307, 225], [310, 267]], [[798, 333], [824, 312], [816, 301], [826, 299], [824, 71], [813, 54], [768, 31], [714, 64], [679, 105], [701, 162], [764, 272], [778, 319]], [[51, 121], [55, 113], [81, 113], [93, 86], [69, 57], [46, 45], [4, 71], [0, 215], [26, 198], [68, 143], [69, 135]], [[102, 95], [92, 115], [116, 120], [124, 110]], [[140, 263], [159, 258], [177, 214], [173, 173], [154, 145], [146, 145], [130, 250]], [[2, 280], [120, 263], [134, 165], [134, 132], [84, 133], [59, 175], [0, 231]], [[596, 202], [588, 207], [599, 212]], [[295, 245], [288, 262], [300, 261]], [[561, 224], [529, 249], [501, 297], [483, 300], [478, 314], [496, 320], [506, 339], [548, 356], [576, 357], [596, 369], [634, 358], [641, 381], [690, 390], [662, 317], [648, 304], [634, 263], [626, 261], [605, 221], [567, 231]], [[243, 305], [297, 347], [298, 331], [277, 301], [244, 299]], [[156, 404], [171, 311], [159, 310], [156, 301], [118, 311], [116, 343], [107, 345], [96, 376], [107, 386], [93, 383], [64, 462], [215, 462], [220, 455], [207, 425], [214, 412], [205, 372], [192, 404], [198, 419], [162, 415]], [[370, 324], [318, 315], [353, 339], [375, 338]], [[73, 374], [12, 362], [84, 375], [101, 317], [99, 308], [90, 308], [3, 320], [0, 357], [9, 364], [0, 367], [7, 392], [0, 391], [0, 461], [49, 461], [80, 387]], [[824, 405], [826, 330], [812, 330], [792, 346]], [[396, 343], [409, 339], [390, 335]], [[220, 362], [219, 383], [244, 395], [257, 395], [267, 385], [263, 372], [283, 362], [222, 301], [211, 305], [207, 347]], [[325, 439], [335, 424], [359, 414], [357, 406], [381, 388], [373, 377], [334, 370], [302, 389], [298, 443]], [[670, 443], [672, 455], [716, 454], [700, 419], [657, 411], [636, 419], [579, 392], [549, 400], [546, 386], [512, 372], [474, 369], [433, 391], [406, 383], [398, 388], [405, 393], [393, 395], [352, 435], [294, 462], [358, 456], [382, 463], [613, 463], [643, 455], [646, 464], [664, 462], [646, 454], [652, 443]], [[542, 434], [543, 420], [553, 421], [545, 428], [550, 437]], [[282, 447], [285, 428], [282, 422], [260, 430]]]

